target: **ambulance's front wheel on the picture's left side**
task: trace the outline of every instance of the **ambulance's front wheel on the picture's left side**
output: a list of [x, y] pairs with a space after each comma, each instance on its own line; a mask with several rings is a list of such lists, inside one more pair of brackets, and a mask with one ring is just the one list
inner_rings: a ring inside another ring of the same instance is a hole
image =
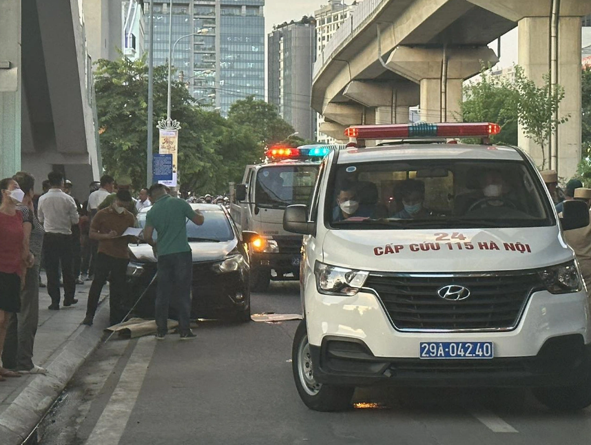
[[291, 369], [295, 387], [302, 402], [314, 411], [344, 411], [351, 408], [351, 397], [355, 388], [349, 386], [333, 386], [318, 383], [314, 380], [312, 360], [306, 322], [302, 320], [293, 338], [291, 350]]

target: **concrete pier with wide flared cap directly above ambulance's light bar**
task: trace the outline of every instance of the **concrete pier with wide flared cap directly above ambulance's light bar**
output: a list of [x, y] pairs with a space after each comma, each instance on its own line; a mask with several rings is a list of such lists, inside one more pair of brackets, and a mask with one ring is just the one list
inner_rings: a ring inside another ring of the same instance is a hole
[[[388, 58], [388, 68], [420, 84], [421, 120], [426, 122], [461, 121], [462, 81], [479, 73], [483, 63], [497, 63], [488, 47], [446, 48], [447, 81], [442, 91], [443, 48], [400, 46]], [[445, 97], [444, 103], [442, 98]]]

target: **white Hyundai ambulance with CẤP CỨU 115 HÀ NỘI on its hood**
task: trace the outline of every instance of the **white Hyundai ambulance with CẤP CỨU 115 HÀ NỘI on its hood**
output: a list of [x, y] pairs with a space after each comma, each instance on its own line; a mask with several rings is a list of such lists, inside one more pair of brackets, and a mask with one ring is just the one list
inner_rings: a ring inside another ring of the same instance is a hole
[[590, 303], [563, 238], [588, 208], [568, 201], [559, 218], [532, 160], [488, 143], [499, 130], [349, 127], [309, 205], [287, 207], [284, 228], [304, 234], [293, 375], [309, 408], [346, 408], [373, 384], [528, 386], [551, 408], [591, 404]]

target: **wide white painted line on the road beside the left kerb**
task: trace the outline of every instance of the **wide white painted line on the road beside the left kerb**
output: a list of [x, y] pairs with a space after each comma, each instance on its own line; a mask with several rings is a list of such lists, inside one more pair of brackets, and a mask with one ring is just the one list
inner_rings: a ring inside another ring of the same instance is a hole
[[119, 443], [138, 399], [155, 347], [156, 340], [153, 337], [138, 340], [105, 411], [98, 418], [96, 426], [85, 442], [86, 445]]

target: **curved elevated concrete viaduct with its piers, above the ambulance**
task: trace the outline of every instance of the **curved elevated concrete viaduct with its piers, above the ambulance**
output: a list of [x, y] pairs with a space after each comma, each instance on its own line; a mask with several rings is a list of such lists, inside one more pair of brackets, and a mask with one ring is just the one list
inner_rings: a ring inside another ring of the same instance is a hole
[[[581, 18], [590, 12], [590, 0], [364, 0], [318, 55], [311, 105], [340, 140], [348, 125], [407, 122], [415, 105], [422, 121], [459, 121], [463, 81], [495, 64], [488, 44], [518, 27], [525, 74], [541, 83], [553, 63], [565, 89], [559, 116], [570, 117], [552, 167], [570, 178], [581, 159]], [[522, 132], [519, 145], [541, 165]]]

